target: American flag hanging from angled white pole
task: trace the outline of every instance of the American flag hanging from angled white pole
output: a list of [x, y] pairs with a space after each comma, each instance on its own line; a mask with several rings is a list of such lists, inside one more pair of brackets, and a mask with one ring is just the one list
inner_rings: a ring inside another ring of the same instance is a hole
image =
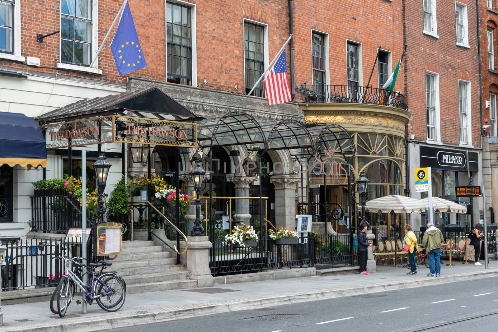
[[289, 81], [287, 80], [287, 62], [285, 61], [285, 50], [283, 50], [277, 62], [264, 79], [264, 92], [268, 99], [268, 105], [280, 104], [292, 100]]

